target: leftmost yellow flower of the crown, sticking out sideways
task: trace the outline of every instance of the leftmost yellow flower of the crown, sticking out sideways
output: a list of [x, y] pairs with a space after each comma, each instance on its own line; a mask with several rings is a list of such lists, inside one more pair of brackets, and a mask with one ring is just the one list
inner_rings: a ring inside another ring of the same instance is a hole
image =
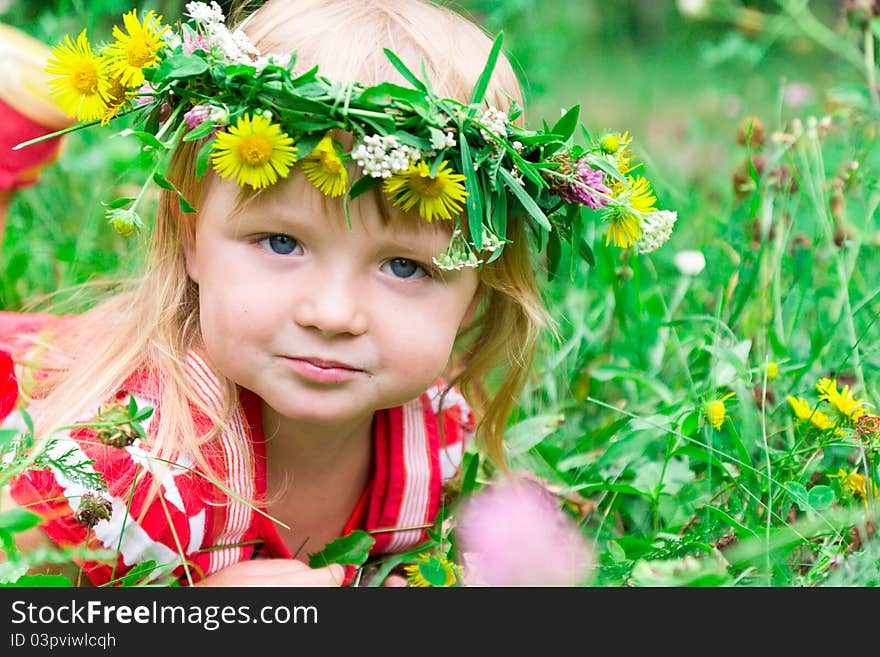
[[104, 98], [109, 85], [106, 62], [92, 51], [86, 31], [76, 38], [69, 36], [52, 49], [53, 58], [46, 64], [46, 72], [58, 77], [49, 81], [52, 96], [58, 106], [80, 121], [94, 121], [104, 114]]

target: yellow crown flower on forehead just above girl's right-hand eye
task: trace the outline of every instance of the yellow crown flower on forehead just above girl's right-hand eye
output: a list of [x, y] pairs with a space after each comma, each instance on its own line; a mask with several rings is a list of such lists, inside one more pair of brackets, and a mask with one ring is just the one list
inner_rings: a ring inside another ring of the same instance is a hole
[[431, 168], [419, 160], [406, 171], [387, 178], [382, 190], [405, 212], [418, 204], [419, 216], [426, 221], [451, 219], [461, 212], [461, 204], [467, 198], [463, 180], [464, 176], [453, 172], [445, 160], [432, 178]]

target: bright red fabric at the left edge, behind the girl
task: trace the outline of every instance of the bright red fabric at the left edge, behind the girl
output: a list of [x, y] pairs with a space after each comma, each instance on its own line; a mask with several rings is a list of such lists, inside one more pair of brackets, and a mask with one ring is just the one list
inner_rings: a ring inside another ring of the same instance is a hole
[[12, 147], [52, 132], [54, 130], [31, 121], [0, 100], [0, 190], [10, 191], [37, 182], [40, 170], [58, 157], [61, 137], [53, 137], [17, 151]]

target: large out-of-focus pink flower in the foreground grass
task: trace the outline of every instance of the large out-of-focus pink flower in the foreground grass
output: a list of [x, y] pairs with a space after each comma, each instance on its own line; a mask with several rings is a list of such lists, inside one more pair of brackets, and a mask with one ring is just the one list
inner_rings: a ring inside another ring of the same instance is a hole
[[474, 493], [462, 503], [457, 525], [465, 584], [585, 583], [592, 561], [586, 537], [536, 482], [511, 480]]

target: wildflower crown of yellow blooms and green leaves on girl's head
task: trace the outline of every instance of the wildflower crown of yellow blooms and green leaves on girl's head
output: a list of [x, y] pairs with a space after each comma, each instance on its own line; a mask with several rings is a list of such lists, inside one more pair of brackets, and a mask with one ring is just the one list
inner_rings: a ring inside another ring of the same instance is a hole
[[[441, 269], [497, 258], [509, 243], [509, 216], [527, 218], [551, 273], [563, 243], [593, 263], [584, 237], [591, 217], [607, 224], [606, 246], [644, 253], [671, 235], [677, 213], [657, 209], [650, 183], [636, 173], [628, 132], [596, 140], [580, 124], [579, 145], [579, 106], [552, 126], [526, 130], [514, 123], [522, 114], [515, 101], [507, 112], [484, 103], [500, 34], [462, 103], [437, 96], [424, 71], [417, 77], [387, 49], [411, 87], [334, 82], [317, 67], [294, 72], [295, 52], [262, 55], [244, 32], [226, 27], [216, 2], [189, 2], [186, 12], [189, 20], [175, 31], [155, 12], [139, 19], [133, 9], [123, 28], [113, 28], [115, 41], [93, 49], [84, 29], [75, 41], [65, 37], [46, 67], [57, 76], [50, 85], [59, 106], [80, 123], [41, 139], [138, 115], [139, 129], [123, 134], [137, 137], [155, 163], [136, 198], [108, 204], [108, 219], [123, 235], [143, 226], [137, 208], [151, 182], [176, 192], [183, 212], [195, 212], [164, 175], [181, 141], [201, 142], [198, 177], [213, 167], [221, 178], [261, 189], [300, 167], [321, 193], [343, 197], [346, 214], [349, 199], [379, 187], [426, 221], [455, 221], [449, 246], [434, 260]], [[337, 130], [353, 136], [347, 152], [333, 139]], [[357, 165], [354, 180], [349, 161]]]

